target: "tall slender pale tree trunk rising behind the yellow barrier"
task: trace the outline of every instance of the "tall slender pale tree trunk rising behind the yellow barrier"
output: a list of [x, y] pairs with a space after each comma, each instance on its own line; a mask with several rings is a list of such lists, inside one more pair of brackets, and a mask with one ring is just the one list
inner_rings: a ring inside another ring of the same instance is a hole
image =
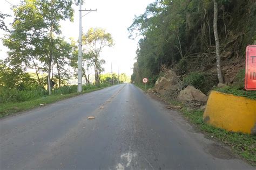
[[220, 60], [220, 42], [218, 36], [218, 3], [217, 0], [214, 0], [214, 15], [213, 15], [213, 32], [215, 37], [215, 47], [216, 47], [216, 65], [217, 65], [217, 74], [219, 83], [223, 83], [223, 76], [221, 73], [221, 60]]

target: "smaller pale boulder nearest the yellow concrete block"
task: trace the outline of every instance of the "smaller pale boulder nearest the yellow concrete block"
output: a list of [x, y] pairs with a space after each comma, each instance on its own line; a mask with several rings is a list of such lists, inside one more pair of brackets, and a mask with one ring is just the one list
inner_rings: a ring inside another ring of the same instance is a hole
[[193, 86], [187, 86], [184, 90], [180, 91], [178, 95], [178, 100], [184, 102], [206, 102], [207, 96]]

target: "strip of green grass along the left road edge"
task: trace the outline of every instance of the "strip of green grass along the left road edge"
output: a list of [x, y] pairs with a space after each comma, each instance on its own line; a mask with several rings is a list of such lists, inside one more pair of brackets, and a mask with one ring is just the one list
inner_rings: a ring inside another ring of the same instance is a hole
[[[107, 86], [109, 87], [109, 86]], [[106, 87], [100, 87], [95, 89], [86, 89], [82, 93], [71, 93], [71, 94], [56, 94], [56, 95], [45, 95], [43, 97], [36, 98], [34, 100], [19, 102], [19, 103], [2, 103], [0, 104], [0, 117], [14, 115], [20, 111], [26, 111], [33, 108], [42, 107], [40, 104], [49, 104], [54, 103], [60, 100], [64, 100], [66, 98], [75, 97], [78, 95], [82, 95], [85, 93], [90, 93], [92, 91], [100, 90]]]

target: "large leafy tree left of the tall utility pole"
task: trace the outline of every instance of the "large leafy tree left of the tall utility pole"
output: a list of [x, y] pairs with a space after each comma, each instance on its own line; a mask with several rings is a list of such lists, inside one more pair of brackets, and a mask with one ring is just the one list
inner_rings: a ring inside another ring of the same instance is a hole
[[[4, 45], [10, 49], [8, 61], [10, 65], [22, 68], [36, 69], [37, 61], [43, 63], [42, 70], [52, 73], [53, 51], [56, 51], [55, 35], [59, 35], [60, 20], [72, 21], [72, 1], [26, 0], [14, 8], [15, 19], [12, 29], [5, 37]], [[52, 87], [51, 81], [49, 86]], [[49, 91], [51, 93], [51, 91]]]

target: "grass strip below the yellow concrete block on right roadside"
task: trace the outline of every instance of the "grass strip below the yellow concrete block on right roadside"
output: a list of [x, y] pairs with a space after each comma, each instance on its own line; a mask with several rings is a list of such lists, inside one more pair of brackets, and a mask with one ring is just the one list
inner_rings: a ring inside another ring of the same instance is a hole
[[256, 166], [256, 136], [237, 132], [228, 132], [223, 129], [215, 128], [203, 122], [203, 111], [194, 109], [188, 110], [186, 107], [181, 110], [184, 116], [191, 123], [208, 137], [213, 137], [218, 141], [230, 146], [234, 153]]

